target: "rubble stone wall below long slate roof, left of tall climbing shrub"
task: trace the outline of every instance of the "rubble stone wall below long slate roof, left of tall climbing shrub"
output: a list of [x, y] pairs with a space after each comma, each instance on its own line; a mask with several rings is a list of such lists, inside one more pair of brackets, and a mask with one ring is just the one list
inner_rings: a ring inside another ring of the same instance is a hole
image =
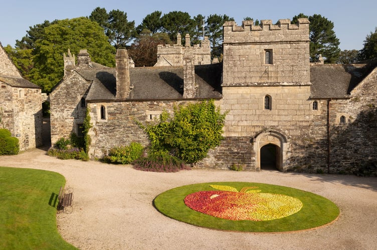
[[[91, 144], [90, 157], [103, 157], [115, 146], [129, 145], [130, 142], [139, 142], [148, 145], [149, 140], [145, 132], [135, 120], [142, 123], [153, 122], [163, 110], [172, 113], [174, 105], [185, 104], [191, 101], [117, 101], [88, 103], [91, 123], [89, 131]], [[101, 106], [105, 107], [106, 118], [101, 119]]]

